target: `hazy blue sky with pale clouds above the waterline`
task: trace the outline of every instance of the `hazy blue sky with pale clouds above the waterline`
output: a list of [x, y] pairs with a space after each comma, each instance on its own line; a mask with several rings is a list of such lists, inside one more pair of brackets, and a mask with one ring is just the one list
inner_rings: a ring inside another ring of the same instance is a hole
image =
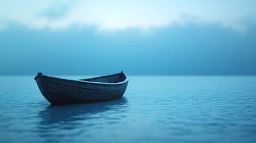
[[255, 1], [0, 1], [0, 74], [256, 74]]

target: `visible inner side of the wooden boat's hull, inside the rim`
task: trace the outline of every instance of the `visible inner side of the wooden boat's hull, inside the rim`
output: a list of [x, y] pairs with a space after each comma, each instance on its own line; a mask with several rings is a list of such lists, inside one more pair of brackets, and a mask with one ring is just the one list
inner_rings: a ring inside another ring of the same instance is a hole
[[104, 83], [118, 83], [123, 82], [126, 79], [124, 73], [113, 74], [109, 76], [93, 77], [90, 79], [81, 79], [88, 82], [104, 82]]

